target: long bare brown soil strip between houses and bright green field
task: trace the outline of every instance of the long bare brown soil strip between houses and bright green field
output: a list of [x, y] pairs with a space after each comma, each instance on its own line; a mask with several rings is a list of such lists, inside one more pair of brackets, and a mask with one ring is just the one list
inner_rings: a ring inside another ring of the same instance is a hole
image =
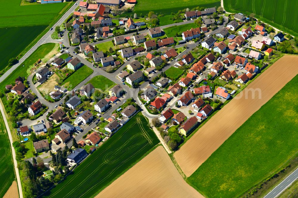
[[[254, 112], [298, 74], [297, 62], [298, 56], [280, 58], [218, 111], [174, 154], [187, 177], [193, 174]], [[250, 90], [255, 90], [254, 99]]]

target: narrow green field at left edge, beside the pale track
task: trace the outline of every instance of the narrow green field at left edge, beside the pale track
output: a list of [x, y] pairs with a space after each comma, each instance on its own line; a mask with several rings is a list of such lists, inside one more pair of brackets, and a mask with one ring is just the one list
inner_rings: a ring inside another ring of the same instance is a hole
[[8, 188], [15, 180], [15, 172], [13, 169], [13, 157], [10, 148], [10, 142], [2, 114], [0, 112], [0, 197], [3, 197]]

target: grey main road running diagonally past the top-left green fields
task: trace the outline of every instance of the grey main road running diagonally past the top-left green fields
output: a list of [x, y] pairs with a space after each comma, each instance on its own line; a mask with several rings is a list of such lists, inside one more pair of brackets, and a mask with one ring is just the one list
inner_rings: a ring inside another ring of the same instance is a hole
[[[78, 4], [80, 1], [83, 0], [78, 0], [76, 3]], [[9, 76], [19, 65], [21, 65], [21, 63], [23, 63], [24, 60], [26, 60], [40, 45], [42, 45], [48, 37], [51, 37], [51, 34], [55, 32], [55, 27], [63, 23], [63, 21], [65, 21], [65, 19], [72, 12], [74, 12], [76, 7], [77, 5], [73, 5], [67, 12], [65, 12], [65, 14], [60, 18], [60, 20], [57, 21], [57, 23], [55, 23], [55, 25], [53, 26], [54, 28], [52, 30], [49, 30], [43, 37], [41, 37], [41, 39], [29, 51], [27, 51], [27, 53], [23, 57], [19, 59], [19, 62], [17, 64], [13, 65], [7, 72], [5, 72], [0, 77], [0, 83], [4, 81], [4, 79], [7, 78], [7, 76]]]

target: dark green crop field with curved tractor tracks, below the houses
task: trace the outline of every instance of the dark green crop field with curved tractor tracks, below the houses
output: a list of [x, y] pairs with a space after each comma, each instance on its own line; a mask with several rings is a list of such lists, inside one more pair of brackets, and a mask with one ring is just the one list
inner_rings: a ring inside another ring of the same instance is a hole
[[148, 121], [138, 113], [44, 196], [95, 197], [158, 143]]

